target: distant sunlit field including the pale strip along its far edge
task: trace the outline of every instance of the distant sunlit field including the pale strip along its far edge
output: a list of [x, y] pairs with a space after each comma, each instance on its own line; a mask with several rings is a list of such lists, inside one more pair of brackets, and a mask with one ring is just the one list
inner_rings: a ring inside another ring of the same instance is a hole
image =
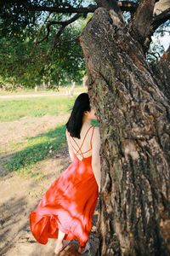
[[[69, 87], [67, 88], [69, 90]], [[25, 116], [41, 117], [43, 115], [59, 115], [63, 113], [69, 113], [77, 94], [87, 91], [82, 86], [77, 86], [74, 90], [75, 96], [67, 96], [66, 88], [62, 87], [59, 89], [59, 94], [62, 96], [39, 96], [39, 97], [28, 97], [28, 98], [9, 98], [0, 99], [0, 122], [13, 121]], [[38, 90], [38, 94], [57, 94], [54, 90]], [[20, 90], [18, 92], [0, 92], [1, 96], [19, 96], [37, 93], [34, 90]]]

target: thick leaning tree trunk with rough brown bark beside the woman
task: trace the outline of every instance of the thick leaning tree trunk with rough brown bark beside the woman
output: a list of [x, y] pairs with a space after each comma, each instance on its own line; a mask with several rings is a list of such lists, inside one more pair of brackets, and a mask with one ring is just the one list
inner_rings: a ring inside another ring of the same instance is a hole
[[97, 9], [81, 44], [102, 138], [99, 255], [168, 255], [167, 97], [116, 13]]

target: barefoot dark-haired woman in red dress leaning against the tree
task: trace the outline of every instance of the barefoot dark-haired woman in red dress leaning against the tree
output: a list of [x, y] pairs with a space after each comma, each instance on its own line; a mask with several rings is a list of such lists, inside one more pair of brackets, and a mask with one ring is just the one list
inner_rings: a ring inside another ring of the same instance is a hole
[[77, 96], [66, 123], [71, 165], [51, 184], [37, 209], [30, 214], [31, 232], [38, 242], [57, 238], [54, 253], [77, 239], [79, 253], [89, 249], [88, 237], [100, 190], [99, 128], [87, 93]]

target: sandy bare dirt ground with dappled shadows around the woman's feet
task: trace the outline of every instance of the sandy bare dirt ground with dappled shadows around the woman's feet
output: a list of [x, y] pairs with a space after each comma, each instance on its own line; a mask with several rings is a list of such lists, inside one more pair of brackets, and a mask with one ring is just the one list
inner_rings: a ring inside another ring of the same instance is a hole
[[[44, 177], [36, 180], [33, 177], [22, 177], [16, 172], [8, 172], [3, 163], [8, 160], [8, 144], [23, 142], [26, 137], [34, 137], [57, 124], [65, 122], [68, 115], [59, 117], [43, 116], [41, 118], [25, 117], [13, 122], [3, 122], [1, 128], [1, 161], [0, 161], [0, 255], [7, 256], [48, 256], [54, 255], [55, 240], [50, 239], [47, 245], [40, 245], [31, 235], [29, 213], [37, 207], [43, 193], [59, 174], [69, 166], [70, 159], [66, 146], [51, 159], [42, 160], [37, 168]], [[99, 245], [96, 236], [98, 212], [94, 213], [94, 226], [89, 238], [90, 251], [84, 255], [95, 255]], [[59, 255], [80, 255], [77, 253], [77, 241]]]

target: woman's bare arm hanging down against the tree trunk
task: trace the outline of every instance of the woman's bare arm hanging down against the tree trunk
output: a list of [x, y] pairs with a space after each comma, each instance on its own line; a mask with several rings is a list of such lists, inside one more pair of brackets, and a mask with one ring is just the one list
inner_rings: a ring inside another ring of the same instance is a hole
[[92, 138], [92, 169], [94, 171], [94, 177], [96, 182], [98, 183], [99, 191], [100, 191], [100, 183], [101, 183], [101, 167], [100, 167], [100, 136], [99, 136], [99, 127], [94, 128], [94, 136]]

